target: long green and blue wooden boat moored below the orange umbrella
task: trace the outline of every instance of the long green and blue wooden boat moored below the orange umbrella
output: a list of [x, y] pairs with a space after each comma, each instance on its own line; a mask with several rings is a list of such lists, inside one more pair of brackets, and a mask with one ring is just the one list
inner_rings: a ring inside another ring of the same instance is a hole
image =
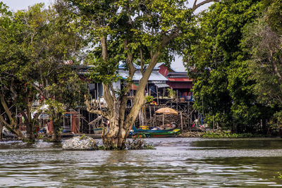
[[133, 137], [138, 138], [160, 138], [160, 137], [175, 137], [180, 133], [179, 129], [168, 130], [166, 132], [133, 132]]

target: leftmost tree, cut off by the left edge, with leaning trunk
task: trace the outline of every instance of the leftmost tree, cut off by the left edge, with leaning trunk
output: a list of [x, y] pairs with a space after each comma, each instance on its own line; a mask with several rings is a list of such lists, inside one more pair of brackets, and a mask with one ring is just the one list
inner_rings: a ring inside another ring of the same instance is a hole
[[[32, 131], [30, 106], [35, 93], [20, 79], [20, 69], [25, 65], [23, 44], [23, 24], [15, 22], [15, 16], [8, 7], [0, 3], [0, 100], [1, 123], [21, 139], [35, 139]], [[27, 109], [26, 112], [24, 110]], [[27, 125], [27, 137], [18, 127], [17, 115], [21, 113]]]

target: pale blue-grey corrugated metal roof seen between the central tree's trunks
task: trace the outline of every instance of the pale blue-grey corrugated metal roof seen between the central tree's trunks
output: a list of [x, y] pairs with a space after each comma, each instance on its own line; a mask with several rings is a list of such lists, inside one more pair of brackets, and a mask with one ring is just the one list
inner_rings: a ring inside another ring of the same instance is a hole
[[[126, 70], [118, 70], [118, 75], [121, 75], [121, 77], [128, 78], [128, 71]], [[133, 81], [139, 81], [142, 78], [142, 73], [140, 71], [136, 71], [133, 76]], [[148, 81], [168, 81], [166, 77], [161, 75], [157, 71], [153, 71], [149, 77]]]

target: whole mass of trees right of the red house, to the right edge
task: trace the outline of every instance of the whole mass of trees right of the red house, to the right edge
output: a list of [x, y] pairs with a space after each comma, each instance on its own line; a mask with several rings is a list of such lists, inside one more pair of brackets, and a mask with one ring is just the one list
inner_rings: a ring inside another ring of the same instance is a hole
[[197, 23], [185, 51], [195, 108], [233, 132], [280, 130], [282, 1], [221, 1]]

